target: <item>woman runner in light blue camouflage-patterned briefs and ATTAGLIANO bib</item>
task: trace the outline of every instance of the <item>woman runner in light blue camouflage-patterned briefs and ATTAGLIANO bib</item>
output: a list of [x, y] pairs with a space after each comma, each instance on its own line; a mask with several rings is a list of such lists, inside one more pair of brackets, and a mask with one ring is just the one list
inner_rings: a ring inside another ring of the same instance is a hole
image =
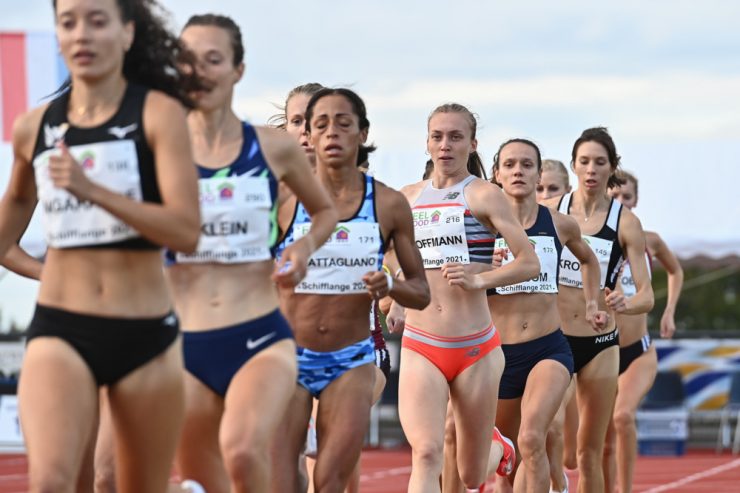
[[[314, 490], [339, 493], [359, 459], [372, 405], [375, 352], [368, 334], [370, 304], [390, 294], [422, 308], [429, 302], [429, 290], [403, 196], [357, 168], [370, 127], [362, 99], [348, 89], [319, 91], [309, 101], [306, 125], [319, 181], [345, 219], [311, 257], [306, 279], [295, 290], [280, 292], [298, 344], [298, 386], [284, 417], [285, 439], [274, 447], [282, 467], [273, 477], [273, 491], [297, 487], [295, 465], [312, 399], [318, 398]], [[281, 248], [301, 238], [312, 220], [302, 204], [288, 201], [281, 208], [286, 231]], [[380, 270], [390, 241], [404, 281], [394, 283]], [[278, 265], [286, 261], [281, 256]]]

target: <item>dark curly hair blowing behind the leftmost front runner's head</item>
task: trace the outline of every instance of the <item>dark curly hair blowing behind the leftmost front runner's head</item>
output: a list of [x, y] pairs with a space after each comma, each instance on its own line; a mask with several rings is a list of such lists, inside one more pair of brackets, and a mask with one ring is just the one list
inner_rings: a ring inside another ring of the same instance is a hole
[[[52, 0], [54, 11], [57, 0]], [[134, 42], [123, 59], [123, 76], [172, 96], [188, 108], [188, 95], [202, 89], [195, 72], [195, 59], [180, 40], [167, 29], [167, 11], [156, 0], [116, 0], [123, 22], [134, 23]], [[55, 94], [72, 85], [67, 79]]]

